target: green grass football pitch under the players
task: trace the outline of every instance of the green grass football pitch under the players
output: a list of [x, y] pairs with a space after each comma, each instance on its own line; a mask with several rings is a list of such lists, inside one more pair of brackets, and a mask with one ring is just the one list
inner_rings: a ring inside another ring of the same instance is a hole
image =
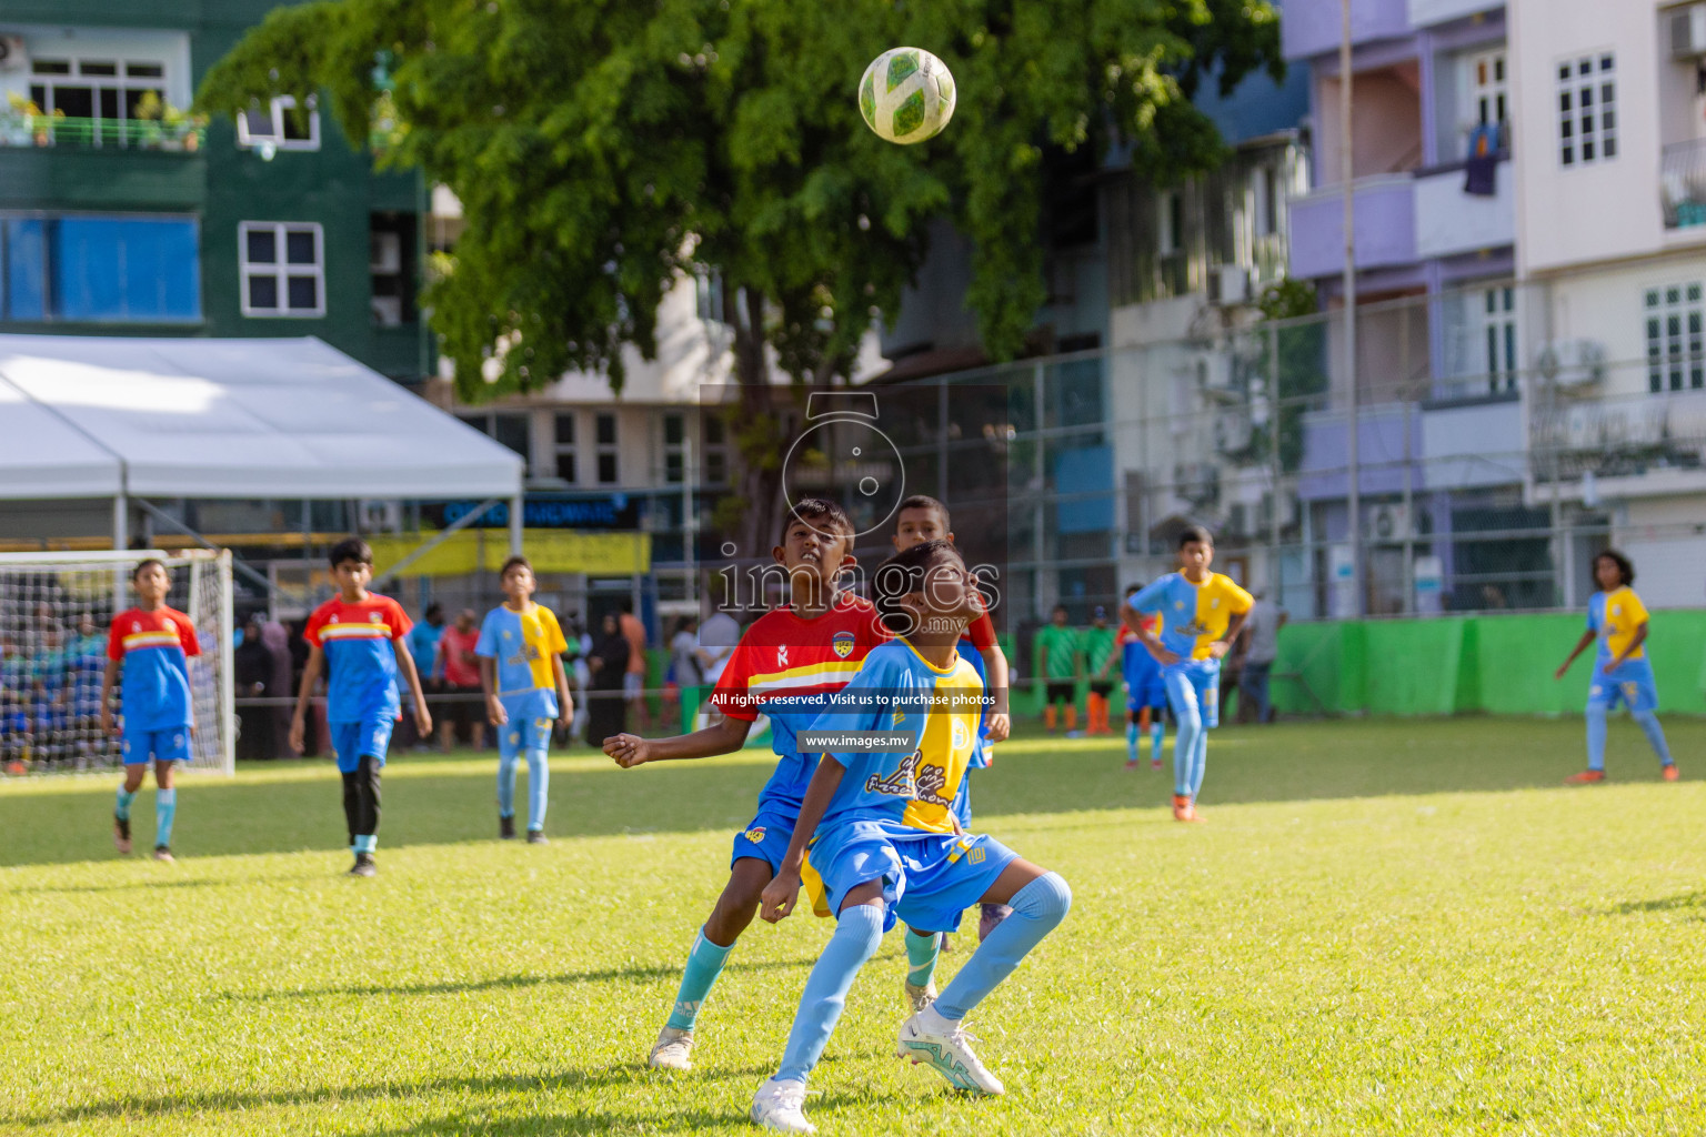
[[[1614, 723], [1223, 730], [1208, 825], [1102, 742], [1022, 738], [988, 828], [1075, 890], [971, 1019], [996, 1101], [892, 1057], [884, 943], [814, 1077], [824, 1134], [1699, 1134], [1706, 723], [1684, 781]], [[119, 863], [113, 777], [0, 784], [0, 1132], [751, 1132], [809, 915], [742, 939], [698, 1069], [643, 1069], [759, 755], [558, 759], [553, 844], [493, 840], [493, 760], [386, 772], [382, 876], [345, 880], [329, 764], [184, 779], [183, 861]], [[136, 803], [152, 844], [152, 793]], [[955, 939], [952, 973], [974, 944]]]

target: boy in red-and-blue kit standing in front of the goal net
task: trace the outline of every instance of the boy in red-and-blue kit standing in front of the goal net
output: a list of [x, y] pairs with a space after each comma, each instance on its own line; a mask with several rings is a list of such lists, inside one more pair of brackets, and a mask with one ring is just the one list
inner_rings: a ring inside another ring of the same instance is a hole
[[[196, 626], [165, 607], [172, 576], [148, 557], [130, 574], [136, 607], [113, 617], [107, 663], [101, 675], [101, 728], [121, 735], [125, 784], [113, 808], [113, 842], [130, 854], [130, 803], [154, 762], [154, 859], [172, 861], [172, 822], [177, 818], [176, 762], [189, 760], [194, 709], [189, 699], [189, 656], [201, 655]], [[119, 682], [123, 733], [113, 724], [113, 687]]]

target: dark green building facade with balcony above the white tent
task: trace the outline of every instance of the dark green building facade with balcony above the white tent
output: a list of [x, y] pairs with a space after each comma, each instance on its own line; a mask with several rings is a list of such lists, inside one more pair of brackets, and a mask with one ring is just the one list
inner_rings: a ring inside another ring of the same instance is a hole
[[0, 7], [0, 331], [319, 336], [426, 377], [421, 177], [375, 170], [326, 113], [184, 114], [273, 7]]

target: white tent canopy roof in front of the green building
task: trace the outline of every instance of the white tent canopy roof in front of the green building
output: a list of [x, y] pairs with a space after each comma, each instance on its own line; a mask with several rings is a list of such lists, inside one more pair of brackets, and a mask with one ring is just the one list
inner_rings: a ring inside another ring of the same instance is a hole
[[0, 336], [0, 499], [514, 499], [524, 476], [314, 338]]

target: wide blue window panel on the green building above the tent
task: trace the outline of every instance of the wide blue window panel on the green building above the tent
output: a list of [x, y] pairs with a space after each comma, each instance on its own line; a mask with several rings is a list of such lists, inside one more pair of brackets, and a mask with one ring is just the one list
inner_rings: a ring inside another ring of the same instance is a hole
[[181, 216], [0, 220], [0, 320], [201, 319], [201, 232]]

